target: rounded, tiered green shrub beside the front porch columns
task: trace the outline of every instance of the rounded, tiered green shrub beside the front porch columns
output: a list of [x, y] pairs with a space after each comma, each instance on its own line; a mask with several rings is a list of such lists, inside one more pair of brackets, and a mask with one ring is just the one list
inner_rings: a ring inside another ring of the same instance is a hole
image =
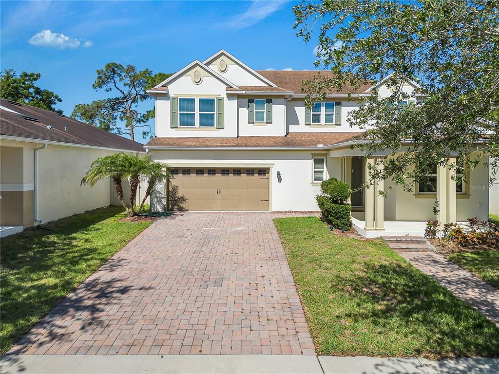
[[349, 230], [351, 206], [346, 203], [352, 191], [346, 183], [329, 178], [320, 185], [322, 194], [316, 200], [327, 223], [337, 229]]

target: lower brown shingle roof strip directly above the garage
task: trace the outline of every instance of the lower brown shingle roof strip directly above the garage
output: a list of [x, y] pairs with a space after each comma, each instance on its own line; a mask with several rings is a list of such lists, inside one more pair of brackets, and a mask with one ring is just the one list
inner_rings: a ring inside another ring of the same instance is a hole
[[152, 138], [146, 148], [152, 147], [317, 147], [343, 143], [361, 133], [289, 133], [286, 136], [240, 136], [238, 138]]

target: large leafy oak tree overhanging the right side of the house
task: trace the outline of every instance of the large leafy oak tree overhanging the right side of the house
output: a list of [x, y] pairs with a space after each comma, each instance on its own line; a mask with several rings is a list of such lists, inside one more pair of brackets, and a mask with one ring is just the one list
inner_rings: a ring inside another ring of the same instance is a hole
[[[498, 5], [497, 0], [301, 2], [293, 8], [297, 35], [309, 42], [318, 31], [316, 66], [336, 74], [308, 82], [308, 104], [346, 83], [358, 87], [395, 73], [387, 82], [393, 95], [378, 100], [374, 91], [350, 122], [371, 140], [357, 145], [367, 155], [393, 150], [384, 172], [371, 171], [372, 176], [391, 178], [407, 190], [456, 152], [458, 165], [472, 168], [484, 155], [498, 157]], [[418, 101], [394, 105], [406, 98], [400, 83], [407, 79], [420, 85]], [[412, 143], [404, 148], [408, 140]], [[497, 171], [497, 161], [491, 167]]]

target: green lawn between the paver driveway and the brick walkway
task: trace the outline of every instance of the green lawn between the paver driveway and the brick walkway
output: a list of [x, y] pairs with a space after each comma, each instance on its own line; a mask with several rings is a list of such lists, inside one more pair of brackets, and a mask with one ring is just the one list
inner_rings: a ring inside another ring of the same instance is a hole
[[381, 240], [274, 219], [320, 355], [499, 355], [499, 329]]

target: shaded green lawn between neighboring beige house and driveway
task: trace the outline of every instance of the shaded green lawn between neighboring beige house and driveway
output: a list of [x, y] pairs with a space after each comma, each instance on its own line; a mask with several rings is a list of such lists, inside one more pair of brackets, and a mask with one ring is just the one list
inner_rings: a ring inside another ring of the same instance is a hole
[[122, 217], [111, 206], [2, 238], [1, 353], [152, 223]]

